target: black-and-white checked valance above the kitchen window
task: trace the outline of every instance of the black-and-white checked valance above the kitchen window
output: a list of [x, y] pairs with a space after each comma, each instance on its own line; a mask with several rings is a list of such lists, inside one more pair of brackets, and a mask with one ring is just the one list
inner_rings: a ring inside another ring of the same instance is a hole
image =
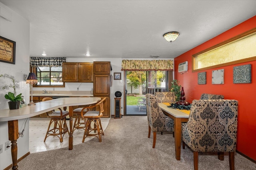
[[30, 66], [62, 66], [62, 63], [66, 62], [65, 57], [30, 57]]

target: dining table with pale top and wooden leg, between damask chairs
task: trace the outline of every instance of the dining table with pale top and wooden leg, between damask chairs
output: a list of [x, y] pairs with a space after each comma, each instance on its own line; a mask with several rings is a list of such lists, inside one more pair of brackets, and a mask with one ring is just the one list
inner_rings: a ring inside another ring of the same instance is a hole
[[164, 103], [158, 103], [163, 113], [174, 120], [174, 141], [175, 141], [175, 157], [176, 160], [180, 160], [181, 152], [181, 123], [187, 122], [189, 117], [189, 111], [184, 113], [178, 109], [172, 109], [167, 107]]

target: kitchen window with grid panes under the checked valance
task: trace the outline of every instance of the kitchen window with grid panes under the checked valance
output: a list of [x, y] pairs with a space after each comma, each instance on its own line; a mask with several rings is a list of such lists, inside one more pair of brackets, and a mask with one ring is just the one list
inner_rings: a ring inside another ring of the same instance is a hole
[[33, 68], [36, 72], [38, 83], [34, 87], [65, 87], [62, 82], [62, 67], [38, 66]]

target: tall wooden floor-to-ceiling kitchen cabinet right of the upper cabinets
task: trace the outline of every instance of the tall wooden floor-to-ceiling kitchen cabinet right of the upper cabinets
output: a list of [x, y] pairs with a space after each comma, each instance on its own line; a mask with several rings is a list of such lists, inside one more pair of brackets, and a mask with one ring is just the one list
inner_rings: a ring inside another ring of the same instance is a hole
[[110, 117], [110, 62], [95, 61], [93, 65], [93, 96], [106, 97], [103, 117]]

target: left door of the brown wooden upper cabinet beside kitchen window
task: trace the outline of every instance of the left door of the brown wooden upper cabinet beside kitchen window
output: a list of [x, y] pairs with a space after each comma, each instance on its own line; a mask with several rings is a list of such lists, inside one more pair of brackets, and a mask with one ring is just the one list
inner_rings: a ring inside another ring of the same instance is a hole
[[62, 63], [62, 82], [78, 82], [78, 63]]

